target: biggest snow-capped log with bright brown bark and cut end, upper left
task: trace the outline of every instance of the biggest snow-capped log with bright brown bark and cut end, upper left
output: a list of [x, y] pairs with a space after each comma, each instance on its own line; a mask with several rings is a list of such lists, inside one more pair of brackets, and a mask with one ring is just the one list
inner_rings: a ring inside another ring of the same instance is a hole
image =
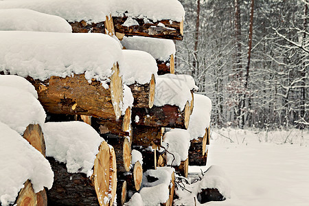
[[[117, 41], [105, 34], [0, 32], [0, 71], [27, 77], [49, 113], [119, 118]], [[18, 49], [15, 49], [18, 48]]]

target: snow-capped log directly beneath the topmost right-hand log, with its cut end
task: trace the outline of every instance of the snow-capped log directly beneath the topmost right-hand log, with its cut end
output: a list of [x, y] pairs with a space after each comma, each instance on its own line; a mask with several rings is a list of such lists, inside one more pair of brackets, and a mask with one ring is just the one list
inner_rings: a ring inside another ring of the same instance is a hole
[[144, 36], [124, 37], [121, 41], [126, 49], [135, 49], [148, 52], [155, 58], [158, 74], [174, 73], [175, 44], [172, 40], [148, 38]]

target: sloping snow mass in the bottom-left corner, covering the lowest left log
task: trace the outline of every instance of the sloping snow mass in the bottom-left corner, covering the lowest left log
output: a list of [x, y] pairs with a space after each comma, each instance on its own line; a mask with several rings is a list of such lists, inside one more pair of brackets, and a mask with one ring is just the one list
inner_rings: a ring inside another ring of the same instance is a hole
[[27, 179], [34, 192], [52, 188], [54, 172], [47, 159], [2, 122], [0, 131], [0, 205], [13, 204]]

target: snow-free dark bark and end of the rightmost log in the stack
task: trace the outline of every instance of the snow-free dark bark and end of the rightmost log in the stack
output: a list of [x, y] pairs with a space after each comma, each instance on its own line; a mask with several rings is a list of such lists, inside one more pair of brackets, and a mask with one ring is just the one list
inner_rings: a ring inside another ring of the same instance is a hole
[[209, 129], [205, 129], [204, 137], [192, 139], [189, 148], [189, 165], [206, 165], [207, 145], [209, 145]]

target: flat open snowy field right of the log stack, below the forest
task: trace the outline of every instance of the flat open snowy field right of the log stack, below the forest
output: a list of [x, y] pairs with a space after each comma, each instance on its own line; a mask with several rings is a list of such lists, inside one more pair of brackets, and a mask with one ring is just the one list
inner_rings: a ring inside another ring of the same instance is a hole
[[308, 130], [214, 129], [208, 154], [202, 170], [220, 166], [231, 198], [204, 205], [309, 205]]

